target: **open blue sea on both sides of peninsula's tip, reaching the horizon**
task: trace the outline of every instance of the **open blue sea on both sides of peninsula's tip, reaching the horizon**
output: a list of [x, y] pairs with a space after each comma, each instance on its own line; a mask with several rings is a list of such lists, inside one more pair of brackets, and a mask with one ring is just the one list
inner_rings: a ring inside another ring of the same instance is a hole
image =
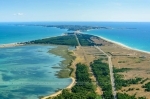
[[[16, 25], [22, 24], [22, 25]], [[34, 22], [0, 23], [0, 44], [23, 42], [50, 36], [58, 36], [65, 29], [28, 25], [88, 25], [109, 29], [91, 30], [85, 33], [102, 36], [131, 48], [150, 52], [149, 22]]]

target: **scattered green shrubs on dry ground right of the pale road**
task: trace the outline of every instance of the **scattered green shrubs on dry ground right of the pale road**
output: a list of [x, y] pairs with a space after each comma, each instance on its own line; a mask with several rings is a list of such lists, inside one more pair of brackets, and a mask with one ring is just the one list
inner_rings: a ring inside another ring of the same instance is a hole
[[[113, 69], [116, 90], [120, 90], [122, 87], [130, 86], [131, 84], [143, 83], [146, 80], [148, 80], [148, 79], [142, 80], [142, 78], [139, 78], [139, 77], [136, 77], [134, 79], [124, 80], [123, 75], [118, 74], [119, 72], [127, 72], [129, 70], [132, 70], [132, 68], [120, 68], [120, 69], [114, 68]], [[129, 88], [127, 91], [132, 91], [132, 90], [134, 90], [134, 88]], [[136, 89], [136, 90], [139, 90], [139, 89]], [[117, 99], [146, 99], [145, 97], [136, 98], [135, 95], [128, 95], [126, 93], [117, 93]]]

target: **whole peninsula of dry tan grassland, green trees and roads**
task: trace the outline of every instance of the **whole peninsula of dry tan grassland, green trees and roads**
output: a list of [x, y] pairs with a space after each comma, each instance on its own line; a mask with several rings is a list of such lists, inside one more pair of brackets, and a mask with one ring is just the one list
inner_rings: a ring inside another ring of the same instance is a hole
[[[71, 54], [75, 59], [68, 67], [71, 69], [69, 74], [76, 79], [76, 83], [42, 99], [59, 99], [60, 97], [149, 99], [150, 97], [148, 87], [150, 77], [147, 67], [150, 55], [148, 53], [129, 49], [94, 35], [77, 32], [23, 44], [55, 44], [76, 47]], [[85, 69], [85, 74], [83, 69]], [[80, 86], [80, 82], [88, 82], [90, 85], [82, 83], [83, 85]]]

